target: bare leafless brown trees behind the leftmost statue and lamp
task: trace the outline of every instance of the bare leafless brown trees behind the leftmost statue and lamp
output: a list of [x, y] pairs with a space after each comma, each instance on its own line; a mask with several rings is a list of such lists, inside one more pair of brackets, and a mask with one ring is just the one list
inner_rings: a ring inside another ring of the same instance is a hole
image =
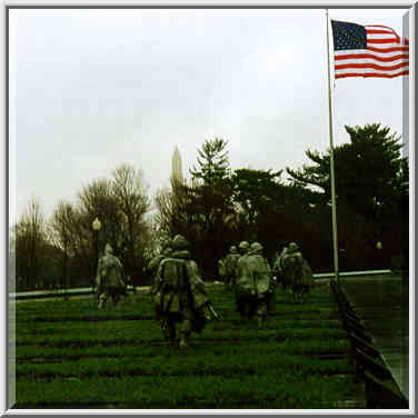
[[[17, 288], [93, 285], [97, 258], [107, 242], [123, 261], [127, 276], [140, 277], [152, 241], [146, 219], [149, 208], [143, 175], [128, 165], [109, 179], [84, 186], [76, 202], [59, 201], [49, 221], [32, 199], [11, 233]], [[92, 228], [96, 218], [99, 231]]]

